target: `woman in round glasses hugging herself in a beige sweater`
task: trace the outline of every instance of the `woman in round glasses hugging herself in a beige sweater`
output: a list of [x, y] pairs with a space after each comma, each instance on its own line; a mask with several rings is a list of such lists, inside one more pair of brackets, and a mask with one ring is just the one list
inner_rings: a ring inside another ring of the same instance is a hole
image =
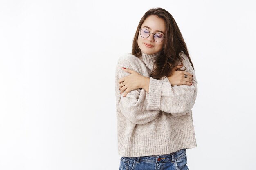
[[132, 54], [115, 70], [119, 170], [188, 170], [186, 148], [197, 146], [192, 110], [193, 64], [182, 34], [165, 9], [141, 18]]

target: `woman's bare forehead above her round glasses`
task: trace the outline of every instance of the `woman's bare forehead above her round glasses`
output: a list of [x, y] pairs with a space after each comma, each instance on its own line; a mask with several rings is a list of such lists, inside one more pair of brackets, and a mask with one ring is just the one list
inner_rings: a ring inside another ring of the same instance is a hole
[[141, 27], [148, 26], [150, 27], [151, 31], [163, 31], [165, 33], [165, 22], [162, 18], [157, 17], [156, 15], [148, 16]]

